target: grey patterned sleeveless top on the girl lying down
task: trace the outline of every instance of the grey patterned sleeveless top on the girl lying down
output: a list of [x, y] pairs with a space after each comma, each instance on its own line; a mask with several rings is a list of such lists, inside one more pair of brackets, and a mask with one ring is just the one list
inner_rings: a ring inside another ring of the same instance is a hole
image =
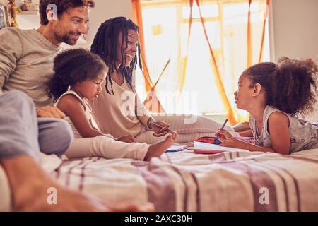
[[[269, 116], [273, 112], [282, 111], [267, 105], [263, 114], [263, 126], [260, 134], [257, 129], [257, 121], [252, 116], [249, 116], [249, 126], [253, 131], [254, 139], [257, 145], [264, 148], [273, 148], [268, 124]], [[289, 119], [290, 154], [300, 150], [318, 148], [318, 124], [291, 117], [290, 114], [285, 112], [282, 113]]]

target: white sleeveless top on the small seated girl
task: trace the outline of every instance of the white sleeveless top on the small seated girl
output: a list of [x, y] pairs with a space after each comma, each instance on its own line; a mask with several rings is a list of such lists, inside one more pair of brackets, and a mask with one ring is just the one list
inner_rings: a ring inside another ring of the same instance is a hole
[[[91, 126], [95, 127], [96, 129], [98, 129], [98, 125], [96, 124], [95, 120], [93, 119], [93, 117], [91, 116], [91, 112], [92, 109], [90, 107], [90, 105], [88, 105], [88, 103], [86, 102], [86, 100], [84, 100], [82, 97], [80, 97], [76, 92], [74, 92], [73, 90], [69, 90], [66, 93], [63, 93], [63, 95], [61, 95], [61, 97], [63, 97], [64, 95], [74, 95], [78, 98], [78, 100], [81, 102], [81, 104], [84, 106], [84, 110], [85, 110], [85, 117], [88, 121], [90, 121]], [[57, 105], [59, 103], [59, 100], [61, 99], [61, 97], [59, 97], [59, 99], [57, 100], [57, 102], [55, 103], [55, 105]], [[76, 127], [74, 126], [73, 122], [71, 121], [71, 119], [66, 116], [65, 120], [67, 122], [69, 122], [69, 124], [71, 125], [71, 128], [73, 130], [74, 133], [74, 138], [83, 138], [81, 136], [80, 133], [78, 133], [78, 130], [76, 129]], [[99, 130], [99, 129], [98, 129]]]

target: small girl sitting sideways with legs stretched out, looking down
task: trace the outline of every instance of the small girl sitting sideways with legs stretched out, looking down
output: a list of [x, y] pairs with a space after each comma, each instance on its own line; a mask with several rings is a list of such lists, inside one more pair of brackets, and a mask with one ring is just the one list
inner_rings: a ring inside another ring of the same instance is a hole
[[66, 151], [67, 157], [150, 160], [151, 157], [160, 157], [175, 142], [177, 133], [174, 131], [165, 140], [153, 145], [135, 143], [131, 136], [124, 136], [117, 141], [111, 135], [99, 131], [86, 101], [97, 98], [105, 86], [107, 67], [98, 55], [86, 49], [66, 50], [54, 59], [53, 70], [49, 93], [54, 97], [57, 107], [66, 114], [66, 120], [75, 135], [75, 140]]

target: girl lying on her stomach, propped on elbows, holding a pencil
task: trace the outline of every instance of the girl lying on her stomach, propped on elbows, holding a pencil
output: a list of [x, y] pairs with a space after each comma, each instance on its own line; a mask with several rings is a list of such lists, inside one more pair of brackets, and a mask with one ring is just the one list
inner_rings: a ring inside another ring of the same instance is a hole
[[257, 145], [238, 141], [219, 130], [221, 145], [283, 155], [318, 148], [318, 124], [298, 119], [312, 112], [317, 95], [317, 65], [283, 58], [246, 69], [234, 93], [237, 108], [249, 112]]

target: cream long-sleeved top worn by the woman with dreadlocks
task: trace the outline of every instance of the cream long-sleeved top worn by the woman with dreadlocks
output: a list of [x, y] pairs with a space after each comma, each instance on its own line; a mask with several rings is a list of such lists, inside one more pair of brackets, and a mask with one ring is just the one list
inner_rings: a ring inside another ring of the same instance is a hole
[[[90, 101], [93, 117], [102, 133], [110, 133], [119, 138], [126, 135], [136, 136], [148, 129], [147, 121], [151, 114], [139, 100], [136, 90], [130, 88], [126, 81], [122, 85], [114, 81], [112, 83], [114, 95], [107, 93], [104, 86], [98, 98]], [[110, 83], [108, 90], [111, 90]]]

